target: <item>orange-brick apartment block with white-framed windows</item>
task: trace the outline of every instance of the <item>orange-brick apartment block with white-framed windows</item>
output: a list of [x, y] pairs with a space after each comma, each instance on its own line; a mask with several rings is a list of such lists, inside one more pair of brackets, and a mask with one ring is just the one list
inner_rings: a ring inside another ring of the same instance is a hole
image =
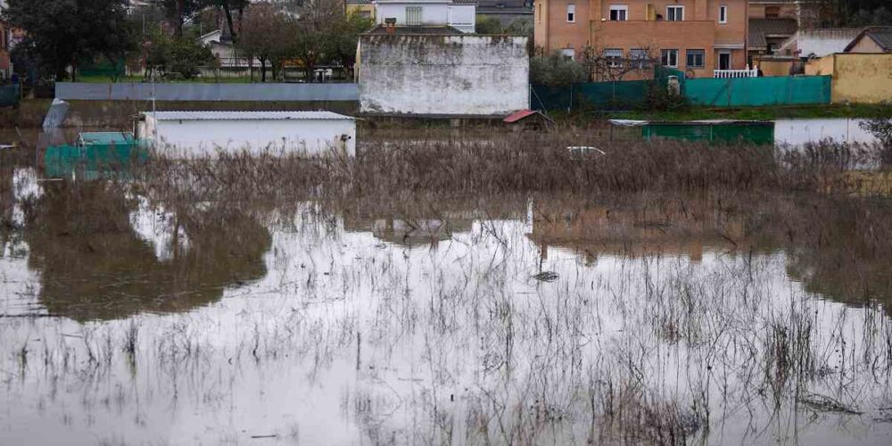
[[535, 44], [658, 59], [689, 77], [747, 68], [748, 0], [536, 0]]

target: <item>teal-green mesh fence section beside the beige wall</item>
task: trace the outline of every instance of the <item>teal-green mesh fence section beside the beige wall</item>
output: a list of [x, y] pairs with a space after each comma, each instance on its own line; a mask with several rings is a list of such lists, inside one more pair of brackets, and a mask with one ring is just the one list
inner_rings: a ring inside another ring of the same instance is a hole
[[710, 107], [830, 103], [830, 76], [687, 79], [684, 95]]

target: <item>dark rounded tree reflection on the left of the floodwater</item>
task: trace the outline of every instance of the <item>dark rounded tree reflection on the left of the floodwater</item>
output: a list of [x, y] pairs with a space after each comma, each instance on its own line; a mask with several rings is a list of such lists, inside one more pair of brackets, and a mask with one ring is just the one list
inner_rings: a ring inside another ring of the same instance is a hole
[[[192, 310], [266, 274], [270, 235], [244, 212], [188, 206], [157, 221], [153, 212], [119, 186], [46, 183], [25, 228], [46, 310], [76, 320]], [[155, 240], [147, 224], [162, 225]]]

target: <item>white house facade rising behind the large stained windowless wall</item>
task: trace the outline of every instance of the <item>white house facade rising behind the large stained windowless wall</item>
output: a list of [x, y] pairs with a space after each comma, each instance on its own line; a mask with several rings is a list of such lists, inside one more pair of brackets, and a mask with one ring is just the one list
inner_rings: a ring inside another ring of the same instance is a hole
[[394, 19], [396, 26], [450, 26], [464, 33], [474, 33], [475, 2], [459, 0], [376, 0], [378, 25]]

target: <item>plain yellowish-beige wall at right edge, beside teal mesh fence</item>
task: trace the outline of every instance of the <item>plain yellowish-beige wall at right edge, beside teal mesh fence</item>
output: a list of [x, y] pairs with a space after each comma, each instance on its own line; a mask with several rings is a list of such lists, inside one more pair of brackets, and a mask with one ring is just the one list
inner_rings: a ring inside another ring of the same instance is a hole
[[892, 101], [892, 54], [835, 54], [833, 103]]

